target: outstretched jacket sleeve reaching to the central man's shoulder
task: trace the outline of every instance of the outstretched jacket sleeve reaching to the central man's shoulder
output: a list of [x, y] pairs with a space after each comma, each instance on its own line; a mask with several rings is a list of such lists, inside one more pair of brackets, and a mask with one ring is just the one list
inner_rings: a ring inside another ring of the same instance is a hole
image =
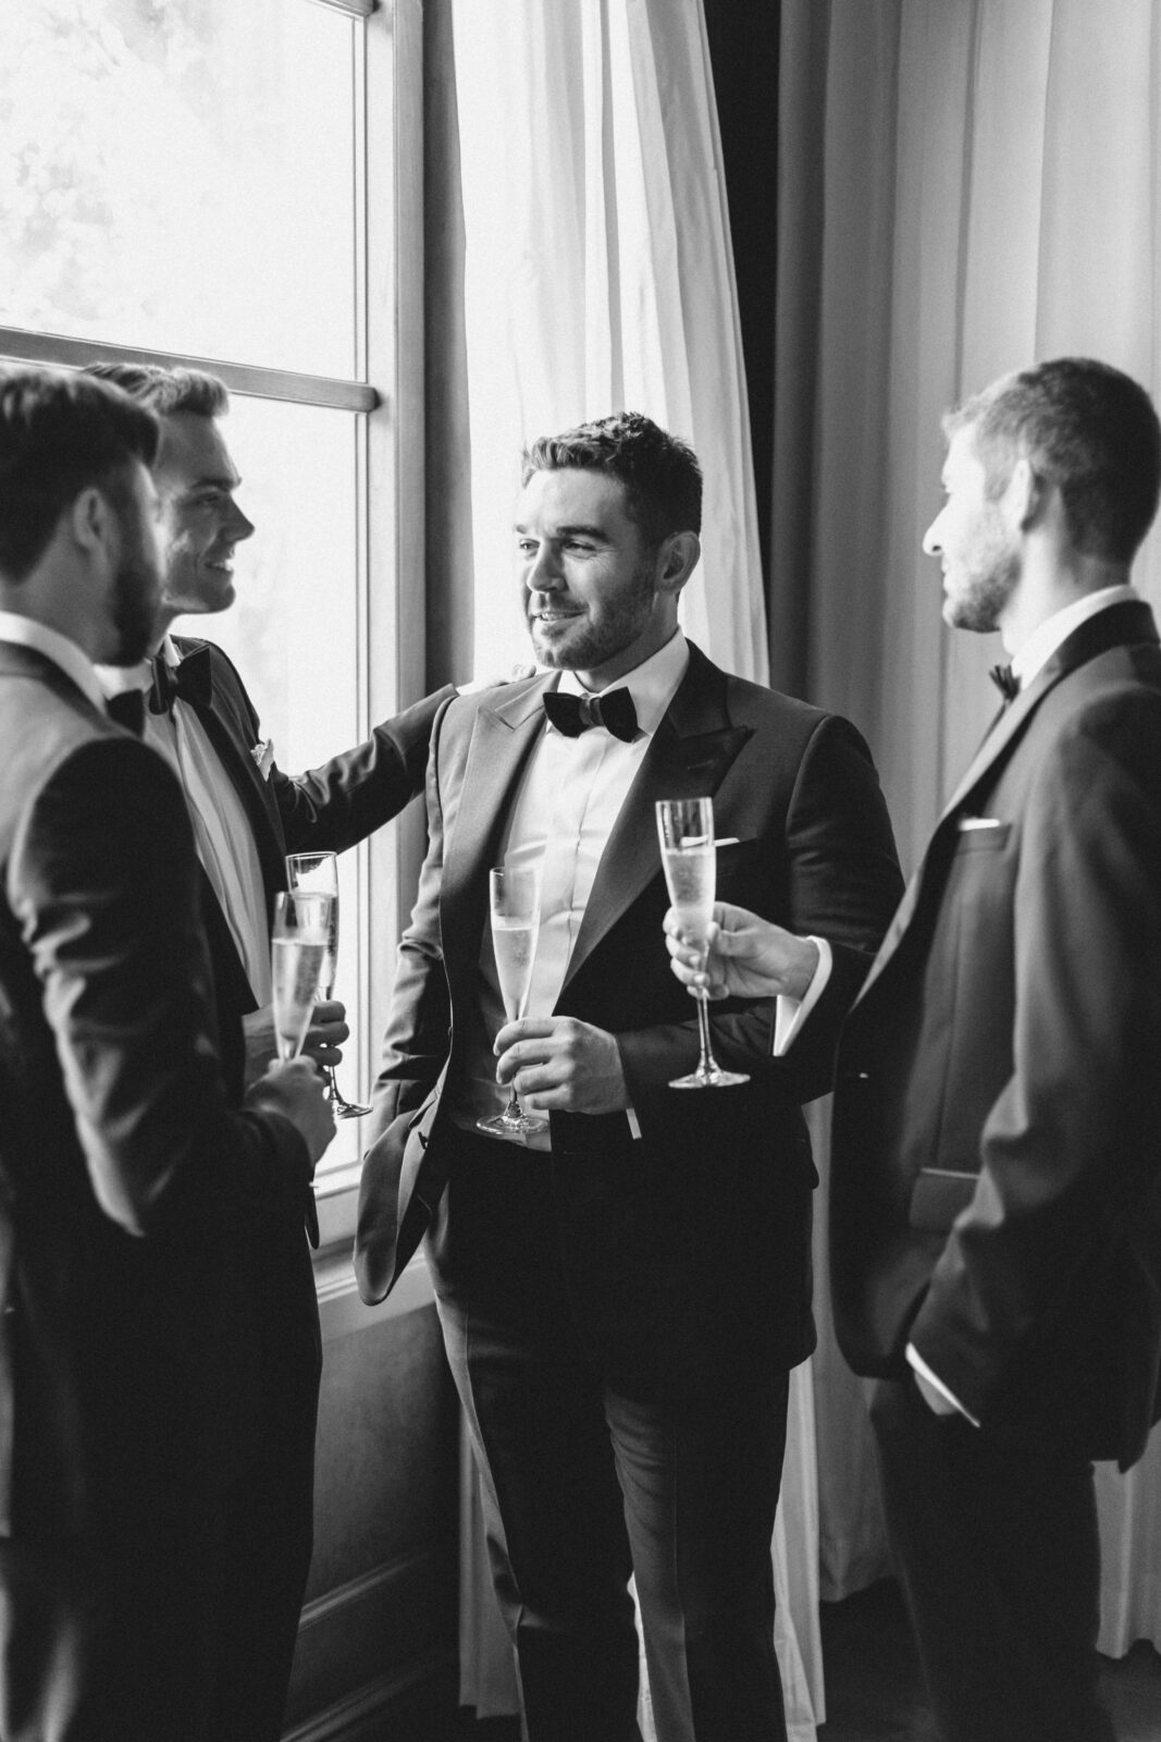
[[423, 791], [432, 725], [454, 693], [447, 686], [428, 695], [308, 773], [272, 768], [287, 852], [345, 852], [397, 817]]

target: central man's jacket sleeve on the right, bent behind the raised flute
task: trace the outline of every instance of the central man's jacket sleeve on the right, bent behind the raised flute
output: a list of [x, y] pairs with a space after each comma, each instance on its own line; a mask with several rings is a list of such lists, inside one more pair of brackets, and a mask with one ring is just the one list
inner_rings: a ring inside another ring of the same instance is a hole
[[[721, 1064], [773, 1075], [785, 1094], [811, 1101], [830, 1089], [842, 1019], [862, 986], [903, 880], [879, 779], [860, 733], [822, 716], [806, 742], [785, 808], [785, 887], [755, 899], [764, 918], [825, 937], [834, 967], [825, 991], [783, 1057], [771, 1059], [775, 1003], [722, 1003], [710, 1016]], [[648, 1104], [696, 1059], [696, 1021], [618, 1035], [634, 1106]]]

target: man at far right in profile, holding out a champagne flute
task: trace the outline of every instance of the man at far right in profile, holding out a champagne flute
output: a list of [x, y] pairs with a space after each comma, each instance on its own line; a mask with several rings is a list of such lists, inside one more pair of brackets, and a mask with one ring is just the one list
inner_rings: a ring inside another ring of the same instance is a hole
[[[947, 1742], [1105, 1742], [1091, 1460], [1161, 1364], [1161, 650], [1147, 394], [1084, 359], [947, 420], [924, 550], [1010, 697], [839, 1045], [832, 1280]], [[780, 939], [722, 913], [721, 991]], [[735, 935], [729, 935], [729, 934]], [[688, 976], [689, 969], [682, 967]]]

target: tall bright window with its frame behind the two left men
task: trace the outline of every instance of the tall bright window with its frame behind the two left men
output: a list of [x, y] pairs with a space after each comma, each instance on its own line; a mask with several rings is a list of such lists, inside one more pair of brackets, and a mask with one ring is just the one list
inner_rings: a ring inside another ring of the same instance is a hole
[[[174, 627], [237, 660], [287, 770], [421, 690], [397, 681], [423, 671], [397, 587], [400, 568], [421, 585], [400, 544], [423, 512], [395, 439], [400, 347], [421, 369], [397, 319], [397, 221], [418, 197], [395, 165], [421, 160], [418, 143], [397, 152], [419, 124], [397, 113], [419, 30], [400, 10], [402, 42], [376, 0], [21, 0], [0, 16], [0, 355], [188, 362], [226, 381], [258, 533], [238, 547], [235, 606]], [[339, 861], [348, 1096], [369, 1087], [393, 955], [383, 836]], [[357, 1143], [343, 1127], [332, 1186]]]

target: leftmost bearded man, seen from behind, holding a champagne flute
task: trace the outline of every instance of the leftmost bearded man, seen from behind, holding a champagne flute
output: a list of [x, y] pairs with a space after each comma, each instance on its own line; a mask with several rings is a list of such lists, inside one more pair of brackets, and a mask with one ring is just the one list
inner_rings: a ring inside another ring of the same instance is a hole
[[308, 1061], [230, 1096], [181, 787], [96, 678], [155, 638], [157, 434], [0, 376], [0, 1735], [37, 1742], [218, 1735], [240, 1279], [334, 1131]]

